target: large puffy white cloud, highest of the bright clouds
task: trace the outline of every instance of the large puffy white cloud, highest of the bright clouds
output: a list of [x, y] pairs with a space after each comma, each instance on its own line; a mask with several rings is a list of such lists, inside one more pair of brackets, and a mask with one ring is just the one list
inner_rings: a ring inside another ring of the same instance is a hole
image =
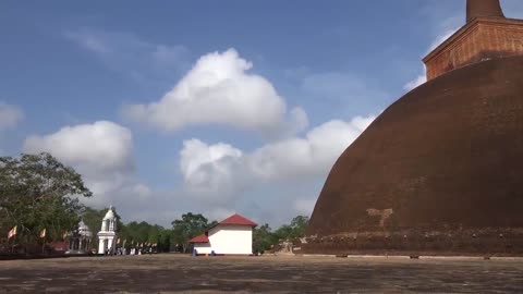
[[305, 111], [288, 113], [270, 82], [248, 73], [252, 68], [234, 49], [208, 53], [159, 101], [126, 106], [123, 115], [167, 132], [221, 124], [271, 135], [306, 126]]

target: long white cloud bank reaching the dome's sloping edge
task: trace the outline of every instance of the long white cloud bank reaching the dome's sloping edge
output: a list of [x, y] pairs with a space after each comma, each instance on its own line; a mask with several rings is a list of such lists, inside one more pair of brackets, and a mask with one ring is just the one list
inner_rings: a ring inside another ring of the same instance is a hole
[[303, 137], [269, 143], [252, 152], [224, 143], [185, 140], [180, 152], [185, 188], [203, 204], [227, 207], [256, 186], [325, 179], [341, 152], [374, 119], [329, 121]]

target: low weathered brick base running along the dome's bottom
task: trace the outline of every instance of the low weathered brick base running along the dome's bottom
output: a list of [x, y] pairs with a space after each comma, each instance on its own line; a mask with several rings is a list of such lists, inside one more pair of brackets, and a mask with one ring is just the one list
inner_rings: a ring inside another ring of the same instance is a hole
[[523, 230], [483, 228], [426, 232], [356, 232], [307, 237], [306, 243], [301, 244], [300, 253], [523, 256]]

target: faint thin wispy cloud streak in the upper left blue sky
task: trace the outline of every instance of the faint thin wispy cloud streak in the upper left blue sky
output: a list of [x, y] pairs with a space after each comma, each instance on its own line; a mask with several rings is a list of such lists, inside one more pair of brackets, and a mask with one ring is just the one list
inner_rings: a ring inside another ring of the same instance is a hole
[[188, 66], [190, 51], [181, 45], [153, 44], [134, 34], [89, 27], [68, 30], [64, 37], [137, 82], [171, 82]]

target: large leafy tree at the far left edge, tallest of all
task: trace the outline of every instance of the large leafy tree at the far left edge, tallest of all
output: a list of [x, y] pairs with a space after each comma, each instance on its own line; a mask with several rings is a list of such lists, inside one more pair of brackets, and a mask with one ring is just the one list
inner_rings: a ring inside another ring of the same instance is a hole
[[78, 222], [83, 206], [77, 196], [90, 197], [82, 176], [49, 154], [0, 157], [0, 230], [2, 236], [17, 225], [16, 242], [28, 246], [60, 240]]

